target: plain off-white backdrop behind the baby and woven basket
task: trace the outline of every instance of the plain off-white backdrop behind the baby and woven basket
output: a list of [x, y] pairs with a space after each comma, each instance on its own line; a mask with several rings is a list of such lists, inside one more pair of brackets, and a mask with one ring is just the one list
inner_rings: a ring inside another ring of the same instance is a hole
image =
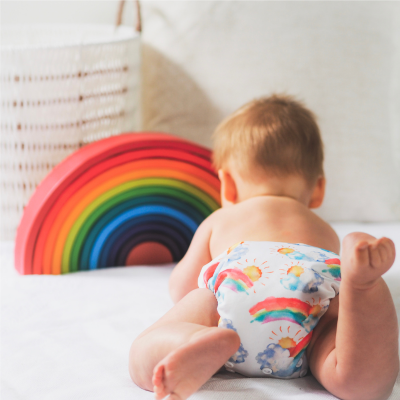
[[[124, 23], [135, 24], [134, 2]], [[400, 220], [400, 3], [141, 1], [143, 127], [210, 145], [251, 98], [296, 95], [326, 149], [324, 218]], [[1, 23], [113, 24], [118, 1], [2, 1]]]

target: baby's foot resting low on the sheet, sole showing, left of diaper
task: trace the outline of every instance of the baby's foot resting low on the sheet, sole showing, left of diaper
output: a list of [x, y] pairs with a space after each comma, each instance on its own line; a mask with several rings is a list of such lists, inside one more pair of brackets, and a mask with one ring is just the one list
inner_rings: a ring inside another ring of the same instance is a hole
[[240, 346], [236, 332], [208, 328], [161, 360], [153, 371], [157, 400], [184, 400], [208, 381]]

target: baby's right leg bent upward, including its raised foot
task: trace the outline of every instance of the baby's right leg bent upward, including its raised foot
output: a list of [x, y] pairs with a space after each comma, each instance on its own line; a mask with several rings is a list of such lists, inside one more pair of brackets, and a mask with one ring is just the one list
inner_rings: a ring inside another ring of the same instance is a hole
[[340, 303], [331, 302], [308, 349], [318, 381], [341, 399], [387, 399], [398, 371], [398, 326], [381, 278], [394, 262], [389, 239], [354, 233], [344, 240]]

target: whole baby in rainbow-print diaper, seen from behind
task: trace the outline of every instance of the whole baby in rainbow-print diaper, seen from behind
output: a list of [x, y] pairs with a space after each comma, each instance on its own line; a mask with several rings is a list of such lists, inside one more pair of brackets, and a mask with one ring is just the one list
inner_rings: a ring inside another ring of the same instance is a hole
[[310, 210], [325, 191], [313, 114], [287, 96], [255, 100], [219, 125], [214, 142], [222, 208], [172, 272], [175, 306], [133, 342], [132, 380], [178, 400], [222, 366], [275, 378], [309, 366], [341, 399], [386, 399], [399, 371], [381, 277], [394, 244], [352, 233], [340, 261], [336, 233]]

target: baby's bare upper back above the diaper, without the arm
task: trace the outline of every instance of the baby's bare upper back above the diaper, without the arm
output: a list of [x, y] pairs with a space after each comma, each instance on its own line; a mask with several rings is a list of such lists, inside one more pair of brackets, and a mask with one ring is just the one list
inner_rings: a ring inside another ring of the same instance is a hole
[[339, 253], [335, 231], [300, 202], [288, 197], [258, 196], [213, 216], [212, 258], [242, 241], [304, 243]]

